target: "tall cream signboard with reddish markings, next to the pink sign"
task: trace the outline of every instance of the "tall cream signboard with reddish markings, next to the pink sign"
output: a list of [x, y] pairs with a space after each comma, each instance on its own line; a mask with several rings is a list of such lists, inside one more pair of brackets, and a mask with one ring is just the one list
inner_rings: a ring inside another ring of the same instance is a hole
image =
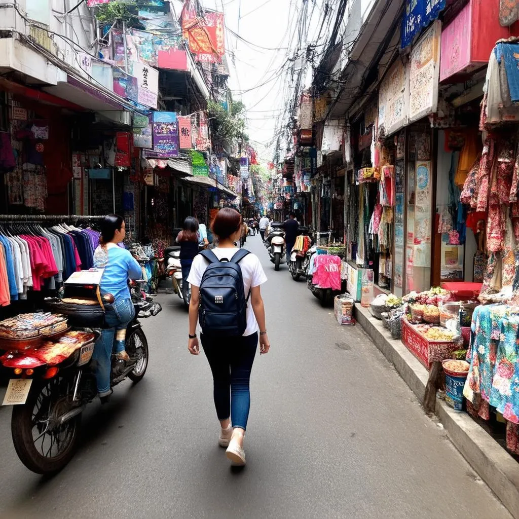
[[409, 122], [436, 112], [440, 77], [442, 24], [436, 20], [411, 50], [409, 62]]

